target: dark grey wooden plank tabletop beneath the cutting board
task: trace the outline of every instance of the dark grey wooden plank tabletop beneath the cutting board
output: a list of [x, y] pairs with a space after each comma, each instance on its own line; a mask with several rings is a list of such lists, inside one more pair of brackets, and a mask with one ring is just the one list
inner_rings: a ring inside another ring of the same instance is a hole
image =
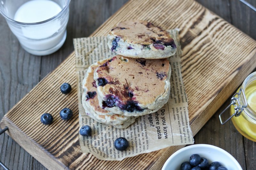
[[[256, 12], [239, 0], [197, 1], [256, 39]], [[255, 0], [247, 1], [256, 7]], [[60, 50], [47, 56], [34, 56], [24, 51], [4, 17], [0, 16], [0, 119], [74, 50], [73, 38], [89, 36], [126, 2], [127, 0], [71, 1], [67, 39]], [[219, 113], [229, 102], [226, 101], [196, 134], [195, 144], [218, 146], [233, 155], [243, 169], [255, 169], [256, 143], [243, 137], [231, 121], [220, 125]], [[0, 160], [9, 169], [45, 169], [6, 134], [0, 136]]]

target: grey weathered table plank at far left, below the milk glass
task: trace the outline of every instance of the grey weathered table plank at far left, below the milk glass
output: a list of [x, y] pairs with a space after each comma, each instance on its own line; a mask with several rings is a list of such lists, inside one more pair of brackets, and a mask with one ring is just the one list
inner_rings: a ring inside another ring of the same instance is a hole
[[[24, 52], [2, 16], [0, 23], [0, 118], [2, 119], [4, 113], [39, 82], [41, 57]], [[31, 162], [34, 161], [32, 156], [6, 134], [0, 137], [0, 153], [0, 160], [10, 169], [32, 169]]]

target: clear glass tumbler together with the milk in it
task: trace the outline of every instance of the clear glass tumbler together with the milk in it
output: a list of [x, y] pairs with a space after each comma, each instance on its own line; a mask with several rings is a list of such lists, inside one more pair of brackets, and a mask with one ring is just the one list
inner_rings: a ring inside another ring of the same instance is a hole
[[0, 13], [21, 46], [48, 55], [65, 42], [70, 0], [0, 0]]

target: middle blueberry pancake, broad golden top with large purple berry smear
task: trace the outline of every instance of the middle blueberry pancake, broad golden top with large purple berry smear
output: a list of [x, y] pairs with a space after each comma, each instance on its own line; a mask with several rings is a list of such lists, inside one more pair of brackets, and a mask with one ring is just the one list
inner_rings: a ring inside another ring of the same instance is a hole
[[156, 112], [170, 95], [167, 59], [116, 55], [94, 71], [100, 107], [125, 116]]

